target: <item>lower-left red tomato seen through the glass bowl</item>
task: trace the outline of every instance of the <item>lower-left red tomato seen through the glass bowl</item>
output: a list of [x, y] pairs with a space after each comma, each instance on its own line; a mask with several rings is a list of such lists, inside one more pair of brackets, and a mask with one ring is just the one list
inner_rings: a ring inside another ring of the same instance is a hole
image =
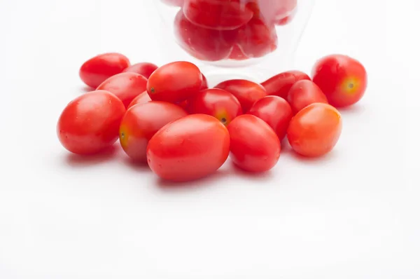
[[223, 60], [235, 42], [235, 32], [206, 29], [191, 23], [182, 11], [175, 18], [175, 36], [184, 50], [204, 61]]

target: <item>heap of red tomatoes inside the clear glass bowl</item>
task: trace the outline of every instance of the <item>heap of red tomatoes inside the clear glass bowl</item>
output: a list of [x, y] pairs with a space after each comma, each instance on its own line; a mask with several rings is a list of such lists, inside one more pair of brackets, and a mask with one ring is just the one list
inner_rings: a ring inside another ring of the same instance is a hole
[[246, 60], [277, 48], [276, 25], [293, 18], [297, 0], [162, 0], [181, 9], [179, 45], [199, 60]]

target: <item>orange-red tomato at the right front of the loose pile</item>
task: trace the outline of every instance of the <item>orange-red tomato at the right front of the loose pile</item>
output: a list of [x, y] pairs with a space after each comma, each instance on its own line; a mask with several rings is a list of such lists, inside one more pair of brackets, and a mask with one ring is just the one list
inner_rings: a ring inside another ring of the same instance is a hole
[[290, 121], [287, 138], [298, 154], [317, 157], [327, 154], [337, 144], [342, 118], [330, 104], [309, 104]]

